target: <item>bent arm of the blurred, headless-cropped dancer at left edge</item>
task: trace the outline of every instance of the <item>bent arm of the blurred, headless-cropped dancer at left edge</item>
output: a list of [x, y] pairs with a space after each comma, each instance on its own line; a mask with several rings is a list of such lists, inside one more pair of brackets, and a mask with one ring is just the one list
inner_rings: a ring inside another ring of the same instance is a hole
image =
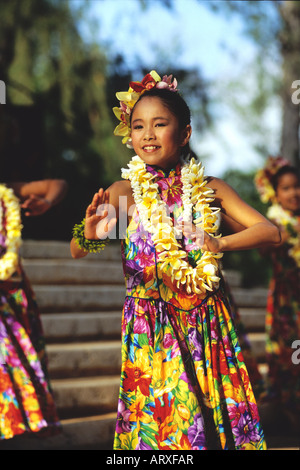
[[31, 216], [41, 215], [61, 202], [68, 189], [66, 181], [61, 179], [16, 182], [10, 186], [20, 198], [25, 215]]

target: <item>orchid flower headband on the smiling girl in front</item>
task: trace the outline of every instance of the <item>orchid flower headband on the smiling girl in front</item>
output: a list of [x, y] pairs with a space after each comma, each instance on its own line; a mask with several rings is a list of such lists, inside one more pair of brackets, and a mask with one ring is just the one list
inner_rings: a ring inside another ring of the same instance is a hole
[[130, 114], [139, 99], [139, 97], [146, 91], [152, 88], [168, 88], [170, 91], [177, 90], [177, 80], [172, 75], [164, 75], [161, 79], [155, 70], [147, 73], [141, 82], [130, 82], [128, 91], [120, 91], [116, 93], [116, 97], [120, 101], [120, 107], [114, 107], [113, 112], [121, 121], [115, 128], [114, 134], [123, 137], [122, 143], [131, 147], [131, 128], [130, 128]]

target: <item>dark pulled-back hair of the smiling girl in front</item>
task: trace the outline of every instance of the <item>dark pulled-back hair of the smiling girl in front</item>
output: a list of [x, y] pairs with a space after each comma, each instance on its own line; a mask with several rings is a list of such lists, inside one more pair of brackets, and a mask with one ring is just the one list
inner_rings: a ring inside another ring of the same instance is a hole
[[[185, 129], [185, 127], [191, 123], [191, 112], [187, 103], [177, 91], [170, 91], [168, 88], [151, 88], [150, 90], [146, 90], [139, 97], [132, 109], [130, 115], [130, 123], [135, 106], [147, 96], [151, 98], [160, 98], [163, 104], [178, 119], [180, 129]], [[190, 153], [189, 143], [187, 143], [182, 150], [184, 155]]]

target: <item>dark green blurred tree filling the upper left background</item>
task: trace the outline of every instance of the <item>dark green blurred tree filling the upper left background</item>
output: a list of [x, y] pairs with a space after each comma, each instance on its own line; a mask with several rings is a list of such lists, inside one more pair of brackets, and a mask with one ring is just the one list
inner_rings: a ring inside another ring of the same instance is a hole
[[[116, 123], [106, 98], [105, 54], [98, 45], [85, 43], [78, 31], [86, 8], [88, 3], [71, 9], [68, 0], [0, 0], [0, 77], [7, 84], [5, 111], [10, 110], [14, 117], [16, 109], [27, 113], [30, 108], [38, 110], [42, 125], [32, 130], [32, 139], [38, 140], [42, 132], [44, 143], [40, 155], [32, 159], [32, 168], [27, 158], [26, 169], [20, 163], [23, 149], [6, 146], [2, 162], [11, 160], [12, 154], [20, 156], [8, 178], [31, 179], [35, 174], [69, 182], [61, 209], [64, 214], [51, 221], [51, 230], [39, 230], [41, 223], [27, 222], [37, 237], [45, 233], [47, 237], [69, 238], [71, 227], [84, 215], [94, 192], [118, 178], [122, 162], [128, 159], [127, 149], [113, 136]], [[37, 158], [44, 163], [40, 174], [33, 171]]]

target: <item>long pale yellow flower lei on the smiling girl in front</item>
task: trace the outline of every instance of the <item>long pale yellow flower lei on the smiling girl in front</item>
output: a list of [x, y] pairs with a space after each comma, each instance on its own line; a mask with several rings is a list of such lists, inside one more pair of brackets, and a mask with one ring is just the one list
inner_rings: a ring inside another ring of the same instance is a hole
[[[204, 168], [192, 158], [183, 161], [181, 169], [183, 221], [191, 220], [193, 211], [200, 214], [194, 221], [200, 228], [214, 236], [218, 227], [217, 213], [220, 209], [210, 207], [213, 190], [206, 187], [203, 176]], [[203, 251], [201, 259], [193, 268], [187, 261], [187, 253], [178, 243], [171, 217], [167, 214], [166, 205], [158, 193], [158, 185], [153, 181], [154, 175], [147, 172], [144, 161], [135, 156], [122, 169], [122, 177], [131, 182], [134, 201], [142, 224], [151, 236], [158, 254], [158, 272], [169, 276], [179, 289], [188, 294], [205, 296], [206, 291], [213, 291], [219, 286], [217, 259], [222, 253]], [[178, 229], [177, 229], [178, 234]]]

